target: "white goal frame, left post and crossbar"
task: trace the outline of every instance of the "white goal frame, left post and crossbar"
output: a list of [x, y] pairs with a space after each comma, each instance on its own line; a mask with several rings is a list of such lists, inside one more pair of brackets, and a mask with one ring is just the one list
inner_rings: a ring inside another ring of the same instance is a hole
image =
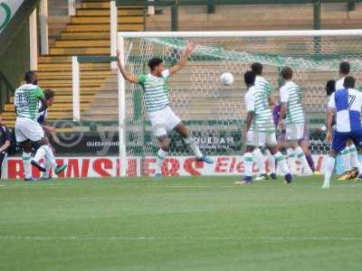
[[[117, 47], [122, 58], [125, 57], [124, 39], [126, 38], [248, 38], [248, 37], [324, 37], [324, 36], [361, 36], [362, 29], [348, 30], [296, 30], [296, 31], [207, 31], [207, 32], [119, 32]], [[124, 63], [124, 59], [121, 60]], [[119, 175], [127, 176], [126, 151], [126, 82], [118, 70], [119, 86]]]

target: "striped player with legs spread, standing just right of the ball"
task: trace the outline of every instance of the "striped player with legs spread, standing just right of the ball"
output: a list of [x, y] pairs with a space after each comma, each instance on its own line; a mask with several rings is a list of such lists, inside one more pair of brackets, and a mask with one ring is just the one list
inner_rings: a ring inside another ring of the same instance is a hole
[[[281, 172], [284, 174], [285, 181], [290, 183], [292, 180], [289, 167], [285, 157], [277, 147], [275, 137], [275, 128], [271, 116], [271, 107], [268, 104], [268, 96], [265, 91], [254, 86], [255, 73], [246, 71], [244, 82], [248, 91], [245, 94], [246, 104], [246, 152], [243, 154], [244, 177], [235, 184], [252, 183], [252, 151], [255, 146], [266, 145], [279, 164]], [[243, 136], [245, 138], [245, 136]]]

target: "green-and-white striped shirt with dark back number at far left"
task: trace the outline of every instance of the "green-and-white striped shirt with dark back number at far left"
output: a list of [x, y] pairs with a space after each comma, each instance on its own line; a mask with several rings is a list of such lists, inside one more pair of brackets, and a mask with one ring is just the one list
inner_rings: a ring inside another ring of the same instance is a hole
[[39, 100], [44, 98], [43, 89], [33, 84], [25, 84], [15, 90], [14, 105], [17, 117], [36, 120]]

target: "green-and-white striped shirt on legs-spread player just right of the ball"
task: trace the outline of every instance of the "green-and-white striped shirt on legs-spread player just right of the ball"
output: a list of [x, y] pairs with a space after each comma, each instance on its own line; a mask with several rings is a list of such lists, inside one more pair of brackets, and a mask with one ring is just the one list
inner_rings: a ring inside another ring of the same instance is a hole
[[275, 133], [267, 91], [252, 86], [245, 94], [245, 104], [246, 111], [254, 113], [252, 131]]

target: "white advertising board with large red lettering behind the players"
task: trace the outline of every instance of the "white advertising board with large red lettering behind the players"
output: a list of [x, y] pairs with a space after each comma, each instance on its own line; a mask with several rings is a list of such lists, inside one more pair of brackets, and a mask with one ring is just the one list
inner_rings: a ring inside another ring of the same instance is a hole
[[[212, 156], [215, 160], [214, 164], [203, 164], [195, 161], [194, 156], [173, 156], [165, 159], [162, 173], [164, 176], [200, 176], [200, 175], [241, 175], [244, 172], [243, 156], [241, 155], [216, 155]], [[317, 171], [323, 173], [324, 163], [327, 155], [313, 155]], [[98, 156], [98, 157], [62, 157], [57, 159], [58, 164], [68, 164], [64, 173], [59, 175], [60, 178], [86, 178], [86, 177], [119, 177], [119, 158], [116, 156]], [[138, 177], [143, 168], [144, 176], [152, 176], [156, 170], [156, 158], [145, 157], [129, 157], [127, 165], [127, 176]], [[266, 164], [267, 170], [269, 169]], [[341, 173], [341, 161], [338, 159], [338, 173]], [[300, 167], [297, 166], [300, 171]], [[253, 173], [257, 173], [258, 169], [254, 165]], [[10, 158], [5, 163], [4, 178], [8, 179], [24, 179], [24, 164], [21, 158]], [[40, 172], [33, 167], [33, 177], [40, 177]]]

